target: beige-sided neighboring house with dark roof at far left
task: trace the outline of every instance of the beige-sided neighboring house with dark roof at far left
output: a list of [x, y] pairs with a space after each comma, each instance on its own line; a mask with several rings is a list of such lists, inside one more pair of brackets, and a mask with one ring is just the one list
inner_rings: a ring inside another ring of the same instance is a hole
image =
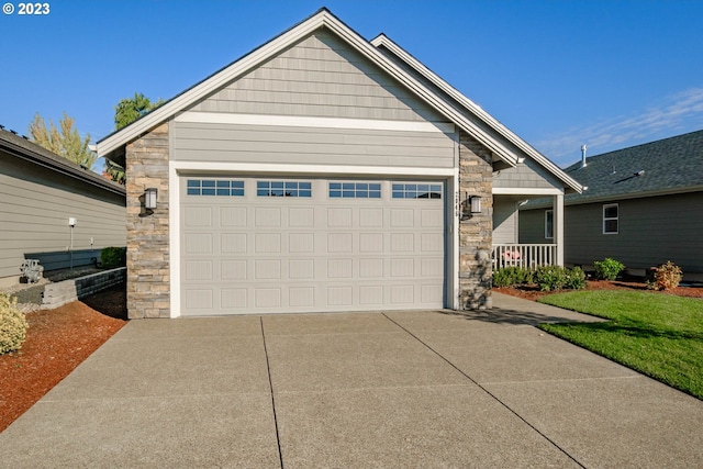
[[101, 248], [126, 245], [123, 186], [4, 130], [0, 201], [0, 287], [18, 282], [25, 259], [49, 271], [93, 264]]

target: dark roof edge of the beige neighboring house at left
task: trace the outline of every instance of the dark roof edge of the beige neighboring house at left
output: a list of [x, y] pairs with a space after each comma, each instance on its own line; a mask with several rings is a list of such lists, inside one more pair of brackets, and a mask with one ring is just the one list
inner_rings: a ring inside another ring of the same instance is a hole
[[0, 150], [35, 165], [49, 168], [70, 178], [78, 179], [83, 183], [97, 186], [123, 197], [125, 196], [124, 186], [105, 179], [90, 169], [86, 169], [69, 159], [56, 155], [13, 132], [0, 130]]

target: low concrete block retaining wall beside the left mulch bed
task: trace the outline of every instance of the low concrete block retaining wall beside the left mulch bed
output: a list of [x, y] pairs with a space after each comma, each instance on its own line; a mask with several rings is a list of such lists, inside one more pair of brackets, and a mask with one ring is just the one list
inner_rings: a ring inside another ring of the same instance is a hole
[[126, 267], [91, 273], [44, 287], [42, 309], [51, 310], [126, 281]]

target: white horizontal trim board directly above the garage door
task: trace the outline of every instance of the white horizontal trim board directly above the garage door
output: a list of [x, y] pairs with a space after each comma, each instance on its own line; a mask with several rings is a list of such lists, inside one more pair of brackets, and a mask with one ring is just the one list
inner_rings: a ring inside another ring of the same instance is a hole
[[412, 178], [449, 178], [454, 168], [420, 168], [390, 166], [336, 166], [336, 165], [280, 165], [260, 163], [202, 163], [170, 161], [171, 170], [179, 172], [239, 172], [277, 175], [341, 176], [395, 176]]

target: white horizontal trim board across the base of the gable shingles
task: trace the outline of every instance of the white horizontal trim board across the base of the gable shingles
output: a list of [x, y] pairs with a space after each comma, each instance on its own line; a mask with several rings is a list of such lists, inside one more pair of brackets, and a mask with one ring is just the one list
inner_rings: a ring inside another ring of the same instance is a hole
[[298, 115], [227, 114], [222, 112], [188, 111], [176, 122], [237, 125], [276, 125], [290, 127], [360, 129], [399, 132], [455, 132], [453, 123], [426, 121], [377, 121], [371, 119], [306, 118]]

